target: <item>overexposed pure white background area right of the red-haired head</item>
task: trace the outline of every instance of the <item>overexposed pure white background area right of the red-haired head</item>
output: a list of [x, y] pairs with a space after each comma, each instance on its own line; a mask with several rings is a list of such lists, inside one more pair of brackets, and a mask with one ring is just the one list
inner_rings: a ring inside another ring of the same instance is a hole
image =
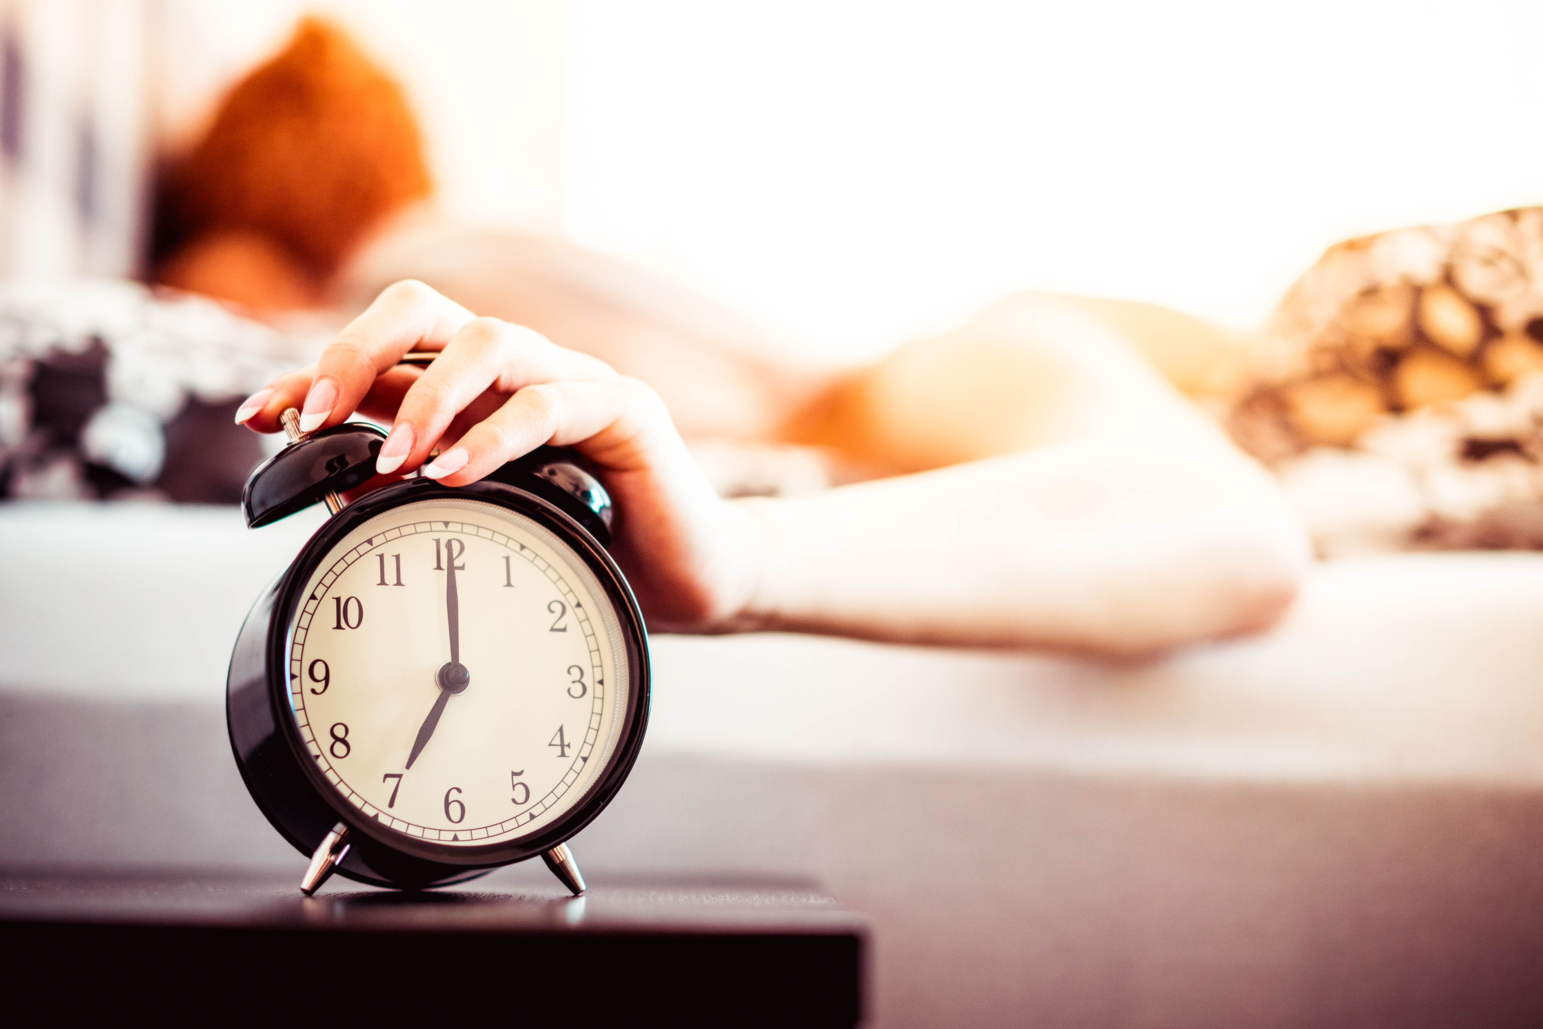
[[1543, 201], [1543, 5], [571, 0], [565, 218], [832, 355]]

